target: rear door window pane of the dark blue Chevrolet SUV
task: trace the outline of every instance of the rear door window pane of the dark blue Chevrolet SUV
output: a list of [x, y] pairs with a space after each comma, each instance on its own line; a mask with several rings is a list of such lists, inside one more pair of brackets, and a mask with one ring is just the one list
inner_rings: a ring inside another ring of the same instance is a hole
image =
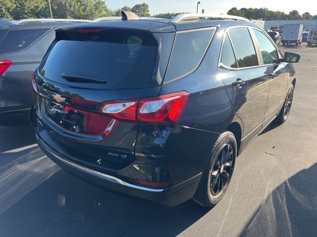
[[247, 28], [229, 29], [239, 68], [258, 66], [258, 58]]

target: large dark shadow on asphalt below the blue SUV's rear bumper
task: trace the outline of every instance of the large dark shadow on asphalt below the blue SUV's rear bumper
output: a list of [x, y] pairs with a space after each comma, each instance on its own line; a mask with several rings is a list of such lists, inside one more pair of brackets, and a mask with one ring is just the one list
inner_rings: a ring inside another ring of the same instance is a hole
[[176, 236], [210, 209], [120, 197], [63, 170], [0, 215], [3, 236]]

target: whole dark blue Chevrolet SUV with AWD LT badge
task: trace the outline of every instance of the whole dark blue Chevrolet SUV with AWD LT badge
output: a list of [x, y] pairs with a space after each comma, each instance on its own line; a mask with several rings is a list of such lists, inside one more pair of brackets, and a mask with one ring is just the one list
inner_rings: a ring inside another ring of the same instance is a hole
[[110, 19], [56, 31], [31, 79], [40, 148], [98, 186], [214, 206], [237, 156], [287, 119], [300, 56], [241, 17]]

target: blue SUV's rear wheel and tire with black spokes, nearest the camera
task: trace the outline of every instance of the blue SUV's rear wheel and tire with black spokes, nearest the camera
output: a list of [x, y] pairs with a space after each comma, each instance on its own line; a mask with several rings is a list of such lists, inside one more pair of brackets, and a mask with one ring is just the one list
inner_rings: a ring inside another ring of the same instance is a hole
[[236, 156], [237, 142], [233, 133], [229, 131], [221, 133], [203, 171], [193, 198], [195, 202], [211, 208], [222, 199], [232, 177]]

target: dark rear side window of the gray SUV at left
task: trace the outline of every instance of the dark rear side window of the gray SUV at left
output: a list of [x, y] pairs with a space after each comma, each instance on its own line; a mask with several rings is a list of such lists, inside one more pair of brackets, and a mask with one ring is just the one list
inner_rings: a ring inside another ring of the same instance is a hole
[[0, 53], [21, 51], [40, 39], [51, 28], [10, 30], [0, 44]]

